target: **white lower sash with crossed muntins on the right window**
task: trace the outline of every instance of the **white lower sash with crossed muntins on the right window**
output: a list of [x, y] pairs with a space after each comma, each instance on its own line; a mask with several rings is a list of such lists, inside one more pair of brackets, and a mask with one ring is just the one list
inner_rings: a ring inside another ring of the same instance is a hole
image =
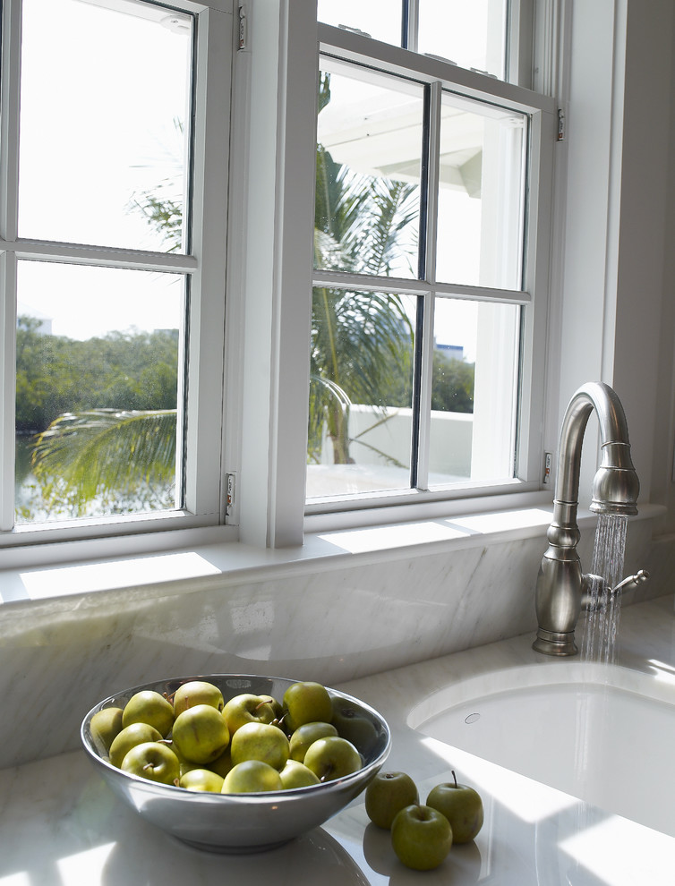
[[[383, 504], [406, 504], [412, 501], [431, 501], [443, 498], [466, 498], [508, 491], [535, 490], [539, 487], [542, 441], [536, 432], [543, 417], [543, 342], [546, 302], [543, 279], [548, 268], [549, 226], [552, 187], [552, 147], [555, 141], [555, 103], [553, 99], [522, 89], [512, 83], [497, 81], [476, 72], [469, 72], [444, 64], [426, 56], [414, 56], [398, 47], [363, 38], [349, 31], [319, 24], [320, 52], [355, 64], [371, 65], [377, 70], [398, 74], [428, 85], [431, 92], [430, 134], [431, 162], [429, 164], [426, 222], [426, 243], [423, 267], [424, 279], [403, 280], [391, 277], [349, 275], [341, 271], [315, 269], [313, 285], [339, 286], [360, 290], [386, 290], [398, 294], [422, 295], [425, 303], [423, 333], [427, 342], [432, 340], [433, 302], [436, 295], [448, 295], [469, 300], [513, 303], [523, 305], [521, 320], [521, 365], [518, 385], [518, 439], [515, 456], [515, 478], [498, 484], [467, 482], [447, 490], [430, 491], [428, 486], [428, 434], [431, 420], [429, 409], [420, 413], [420, 448], [417, 469], [414, 472], [416, 488], [363, 495], [339, 495], [309, 499], [305, 505], [308, 516], [344, 510], [359, 510]], [[440, 138], [440, 94], [455, 93], [468, 99], [507, 107], [527, 115], [528, 132], [525, 161], [525, 210], [524, 256], [522, 288], [517, 290], [492, 289], [474, 285], [439, 284], [433, 278], [436, 249], [436, 205], [438, 183], [438, 158]], [[431, 273], [430, 273], [431, 271]], [[426, 372], [422, 376], [421, 402], [431, 403], [431, 351], [427, 349]]]

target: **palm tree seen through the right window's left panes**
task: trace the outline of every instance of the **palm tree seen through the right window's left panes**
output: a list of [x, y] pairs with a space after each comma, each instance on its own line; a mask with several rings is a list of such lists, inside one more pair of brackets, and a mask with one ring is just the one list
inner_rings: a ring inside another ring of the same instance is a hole
[[[319, 110], [329, 101], [330, 77], [322, 74]], [[315, 194], [315, 267], [388, 276], [400, 237], [419, 212], [416, 187], [357, 175], [318, 145]], [[363, 440], [349, 437], [349, 407], [371, 404], [383, 415], [392, 379], [409, 389], [412, 338], [410, 319], [397, 295], [315, 287], [309, 460], [320, 458], [324, 427], [335, 464], [353, 460], [350, 444]]]

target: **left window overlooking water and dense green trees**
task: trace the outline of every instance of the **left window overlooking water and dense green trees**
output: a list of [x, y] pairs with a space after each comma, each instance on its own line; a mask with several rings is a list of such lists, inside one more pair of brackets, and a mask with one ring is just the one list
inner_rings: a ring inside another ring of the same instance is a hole
[[222, 516], [231, 7], [3, 4], [5, 542]]

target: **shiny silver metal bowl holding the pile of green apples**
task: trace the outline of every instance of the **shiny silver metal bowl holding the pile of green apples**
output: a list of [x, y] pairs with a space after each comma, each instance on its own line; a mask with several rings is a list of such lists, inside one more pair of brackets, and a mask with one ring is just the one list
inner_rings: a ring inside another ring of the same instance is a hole
[[125, 689], [96, 704], [82, 720], [81, 740], [90, 761], [110, 788], [142, 818], [162, 831], [198, 848], [215, 852], [258, 852], [286, 843], [339, 812], [374, 778], [389, 756], [391, 737], [387, 722], [368, 704], [351, 695], [329, 689], [341, 699], [340, 734], [357, 747], [363, 768], [344, 779], [307, 788], [254, 794], [213, 794], [175, 788], [141, 779], [117, 769], [100, 753], [90, 730], [91, 718], [107, 707], [121, 707], [141, 689], [173, 694], [190, 680], [208, 680], [223, 693], [225, 701], [240, 693], [268, 694], [280, 701], [295, 683], [281, 677], [200, 675], [145, 683]]

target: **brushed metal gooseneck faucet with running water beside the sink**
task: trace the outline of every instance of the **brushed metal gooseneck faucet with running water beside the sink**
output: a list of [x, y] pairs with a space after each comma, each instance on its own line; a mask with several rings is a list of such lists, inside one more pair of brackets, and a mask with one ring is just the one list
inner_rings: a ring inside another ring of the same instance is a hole
[[623, 406], [608, 385], [589, 382], [569, 401], [560, 429], [553, 521], [546, 533], [549, 547], [537, 577], [539, 630], [533, 649], [548, 655], [577, 652], [574, 632], [586, 587], [577, 553], [579, 473], [585, 427], [594, 409], [600, 422], [602, 459], [593, 481], [591, 510], [598, 514], [637, 514], [640, 484], [630, 458]]

